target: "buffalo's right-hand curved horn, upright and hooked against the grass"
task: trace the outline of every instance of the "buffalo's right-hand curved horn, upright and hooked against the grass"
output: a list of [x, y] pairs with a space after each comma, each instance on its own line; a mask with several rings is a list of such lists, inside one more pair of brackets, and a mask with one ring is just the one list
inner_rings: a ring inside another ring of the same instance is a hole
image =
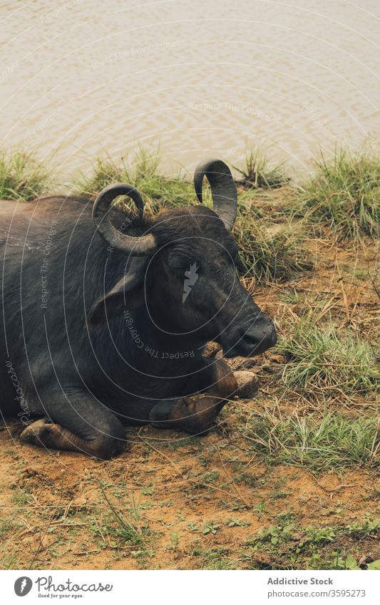
[[234, 226], [237, 213], [237, 190], [230, 168], [222, 160], [206, 160], [197, 165], [194, 187], [201, 204], [202, 183], [205, 176], [211, 186], [214, 210], [224, 222], [227, 231], [230, 231]]

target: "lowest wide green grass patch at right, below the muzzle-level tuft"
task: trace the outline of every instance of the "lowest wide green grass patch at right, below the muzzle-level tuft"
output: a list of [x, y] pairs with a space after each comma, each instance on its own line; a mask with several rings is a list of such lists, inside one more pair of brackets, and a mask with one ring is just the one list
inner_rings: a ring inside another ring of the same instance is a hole
[[306, 466], [315, 470], [350, 465], [379, 466], [379, 430], [375, 419], [326, 414], [251, 415], [245, 436], [272, 464]]

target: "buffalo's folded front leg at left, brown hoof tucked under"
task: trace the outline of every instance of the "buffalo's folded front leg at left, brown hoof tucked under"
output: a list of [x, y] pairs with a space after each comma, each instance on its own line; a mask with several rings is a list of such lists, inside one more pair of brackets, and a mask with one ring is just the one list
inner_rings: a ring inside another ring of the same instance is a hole
[[65, 400], [49, 400], [46, 416], [28, 425], [21, 441], [43, 448], [71, 450], [111, 458], [123, 449], [125, 429], [120, 420], [91, 395], [84, 393]]

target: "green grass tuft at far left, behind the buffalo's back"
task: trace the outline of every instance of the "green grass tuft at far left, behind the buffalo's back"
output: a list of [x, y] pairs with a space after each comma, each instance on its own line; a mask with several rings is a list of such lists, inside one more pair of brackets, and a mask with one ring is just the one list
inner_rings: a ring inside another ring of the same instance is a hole
[[51, 178], [30, 153], [0, 152], [0, 198], [29, 202], [47, 191]]

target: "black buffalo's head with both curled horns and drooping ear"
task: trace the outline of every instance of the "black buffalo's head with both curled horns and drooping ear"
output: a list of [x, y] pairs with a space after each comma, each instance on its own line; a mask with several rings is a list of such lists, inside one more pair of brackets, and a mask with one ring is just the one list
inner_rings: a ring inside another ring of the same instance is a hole
[[[235, 269], [235, 182], [225, 162], [202, 162], [194, 179], [200, 202], [204, 177], [210, 182], [213, 210], [187, 206], [150, 221], [143, 219], [143, 200], [134, 187], [110, 185], [98, 195], [93, 207], [98, 233], [108, 249], [128, 256], [128, 269], [96, 302], [90, 319], [96, 323], [125, 308], [145, 306], [163, 334], [193, 343], [216, 341], [225, 357], [254, 356], [274, 346], [277, 337]], [[120, 195], [132, 198], [138, 214], [115, 227], [111, 203]]]

